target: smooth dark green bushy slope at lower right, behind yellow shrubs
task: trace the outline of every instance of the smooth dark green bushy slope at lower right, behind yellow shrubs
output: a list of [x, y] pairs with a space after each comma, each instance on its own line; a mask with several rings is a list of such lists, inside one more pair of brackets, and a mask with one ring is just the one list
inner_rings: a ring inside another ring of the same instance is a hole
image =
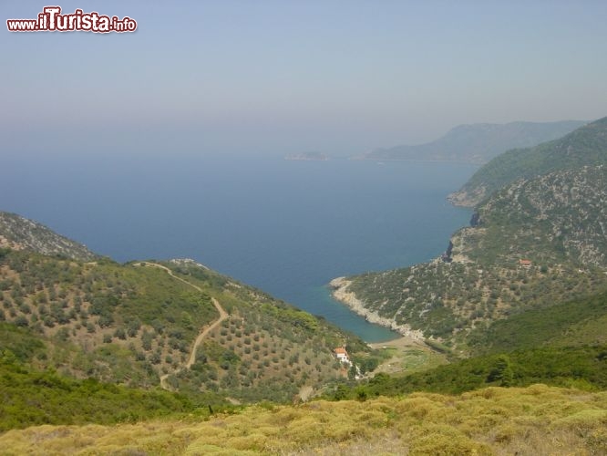
[[535, 308], [478, 328], [469, 345], [479, 356], [414, 373], [380, 373], [339, 385], [328, 399], [401, 396], [417, 391], [460, 394], [490, 386], [535, 383], [607, 389], [607, 293]]

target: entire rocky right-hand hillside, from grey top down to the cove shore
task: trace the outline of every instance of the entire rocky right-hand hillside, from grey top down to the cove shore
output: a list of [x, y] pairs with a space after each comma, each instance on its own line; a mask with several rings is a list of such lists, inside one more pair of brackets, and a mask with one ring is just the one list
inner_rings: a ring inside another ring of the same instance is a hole
[[336, 296], [464, 349], [497, 319], [607, 289], [605, 198], [605, 166], [517, 181], [478, 208], [442, 260], [348, 277]]

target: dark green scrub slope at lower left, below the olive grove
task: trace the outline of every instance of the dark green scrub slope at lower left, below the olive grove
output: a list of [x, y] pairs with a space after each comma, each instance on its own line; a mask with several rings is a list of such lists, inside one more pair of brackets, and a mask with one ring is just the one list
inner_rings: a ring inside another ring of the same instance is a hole
[[197, 409], [177, 393], [26, 368], [8, 351], [0, 352], [0, 391], [0, 432], [40, 424], [135, 422]]

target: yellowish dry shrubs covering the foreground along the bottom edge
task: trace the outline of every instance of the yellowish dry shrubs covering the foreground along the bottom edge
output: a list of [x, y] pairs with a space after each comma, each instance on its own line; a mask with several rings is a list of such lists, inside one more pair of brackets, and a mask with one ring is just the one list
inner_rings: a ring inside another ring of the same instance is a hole
[[534, 385], [458, 397], [250, 407], [211, 420], [38, 426], [0, 436], [4, 454], [606, 454], [607, 392]]

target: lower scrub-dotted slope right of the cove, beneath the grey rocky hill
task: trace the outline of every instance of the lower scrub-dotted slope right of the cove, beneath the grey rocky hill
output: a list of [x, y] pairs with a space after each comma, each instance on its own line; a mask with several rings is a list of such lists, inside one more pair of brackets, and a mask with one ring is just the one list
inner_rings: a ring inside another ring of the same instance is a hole
[[366, 309], [461, 350], [469, 331], [493, 320], [607, 290], [607, 277], [595, 267], [580, 271], [538, 265], [528, 270], [518, 264], [440, 260], [348, 280], [347, 291]]

